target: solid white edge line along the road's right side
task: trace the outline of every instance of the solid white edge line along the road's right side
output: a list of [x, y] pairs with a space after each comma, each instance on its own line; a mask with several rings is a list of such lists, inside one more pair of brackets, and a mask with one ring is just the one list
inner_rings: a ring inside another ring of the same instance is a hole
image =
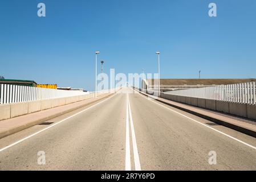
[[[143, 97], [141, 94], [140, 94], [140, 96]], [[145, 97], [144, 97], [144, 98], [145, 98]], [[149, 101], [152, 101], [152, 100], [149, 100]], [[232, 136], [230, 136], [230, 135], [228, 135], [228, 134], [225, 134], [225, 133], [223, 133], [222, 131], [216, 130], [216, 129], [214, 129], [213, 127], [210, 127], [210, 126], [208, 126], [208, 125], [205, 125], [204, 123], [201, 123], [201, 122], [199, 122], [199, 121], [196, 121], [196, 119], [193, 119], [193, 118], [190, 118], [190, 117], [188, 117], [188, 116], [186, 116], [186, 115], [184, 115], [184, 114], [178, 113], [177, 111], [172, 110], [172, 109], [170, 109], [169, 107], [166, 107], [166, 106], [164, 106], [164, 105], [161, 105], [161, 104], [157, 103], [156, 101], [152, 101], [152, 102], [154, 102], [155, 104], [160, 105], [160, 106], [162, 106], [162, 107], [165, 107], [166, 109], [169, 109], [169, 110], [173, 111], [174, 113], [180, 114], [180, 115], [182, 115], [182, 116], [185, 117], [185, 118], [188, 118], [188, 119], [190, 119], [190, 120], [192, 120], [192, 121], [194, 121], [194, 122], [196, 122], [196, 123], [198, 123], [198, 124], [200, 124], [200, 125], [202, 125], [202, 126], [208, 127], [208, 128], [211, 129], [211, 130], [214, 130], [214, 131], [216, 131], [216, 132], [218, 132], [218, 133], [220, 133], [220, 134], [222, 134], [222, 135], [225, 135], [226, 137], [229, 137], [229, 138], [231, 138], [231, 139], [233, 139], [233, 140], [236, 140], [237, 142], [242, 143], [242, 144], [245, 144], [246, 146], [251, 147], [251, 148], [253, 148], [253, 149], [256, 150], [256, 147], [255, 147], [255, 146], [252, 146], [252, 145], [249, 144], [249, 143], [243, 142], [242, 140], [239, 140], [239, 139], [237, 139], [237, 138], [235, 138], [235, 137], [232, 137]]]

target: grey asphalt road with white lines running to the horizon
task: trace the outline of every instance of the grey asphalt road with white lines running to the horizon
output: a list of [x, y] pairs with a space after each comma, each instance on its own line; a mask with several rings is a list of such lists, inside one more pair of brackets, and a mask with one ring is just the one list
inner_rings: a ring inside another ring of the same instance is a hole
[[132, 88], [47, 122], [0, 139], [1, 170], [256, 169], [255, 138]]

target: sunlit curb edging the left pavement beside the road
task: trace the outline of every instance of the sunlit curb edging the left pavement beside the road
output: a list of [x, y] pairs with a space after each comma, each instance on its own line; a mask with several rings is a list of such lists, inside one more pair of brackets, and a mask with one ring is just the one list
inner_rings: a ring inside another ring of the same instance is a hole
[[84, 106], [87, 106], [87, 105], [90, 105], [90, 104], [93, 104], [97, 101], [100, 101], [100, 100], [103, 100], [104, 98], [106, 97], [109, 97], [111, 96], [112, 94], [108, 94], [107, 96], [104, 96], [102, 98], [99, 98], [95, 101], [92, 101], [92, 102], [89, 102], [87, 104], [83, 104], [83, 105], [80, 105], [80, 106], [76, 106], [76, 107], [73, 107], [71, 109], [68, 109], [68, 110], [65, 110], [65, 111], [62, 111], [60, 113], [56, 113], [56, 114], [53, 114], [53, 115], [50, 115], [48, 117], [45, 117], [45, 118], [40, 118], [40, 119], [37, 119], [33, 122], [30, 122], [30, 123], [27, 123], [25, 125], [22, 125], [22, 126], [19, 126], [19, 127], [14, 127], [13, 129], [10, 129], [10, 130], [7, 130], [7, 131], [2, 131], [0, 133], [0, 139], [1, 138], [4, 138], [4, 137], [7, 137], [8, 135], [11, 135], [11, 134], [14, 134], [14, 133], [17, 133], [19, 131], [22, 131], [22, 130], [25, 130], [25, 129], [28, 129], [29, 127], [32, 127], [32, 126], [35, 126], [35, 125], [39, 125], [40, 123], [43, 123], [45, 121], [48, 121], [50, 119], [54, 119], [56, 117], [59, 117], [60, 115], [63, 115], [63, 114], [67, 114], [67, 113], [70, 113], [71, 111], [74, 111], [76, 109], [80, 109], [81, 107], [84, 107]]

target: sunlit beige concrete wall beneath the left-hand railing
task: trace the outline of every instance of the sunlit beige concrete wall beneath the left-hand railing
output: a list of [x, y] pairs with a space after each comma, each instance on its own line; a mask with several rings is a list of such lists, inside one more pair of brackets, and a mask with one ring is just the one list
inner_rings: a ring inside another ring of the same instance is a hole
[[[106, 93], [115, 93], [120, 90], [111, 89], [104, 90], [103, 92], [99, 92], [97, 96]], [[73, 96], [73, 97], [63, 97], [63, 98], [54, 98], [49, 100], [39, 100], [39, 101], [30, 101], [30, 102], [19, 102], [15, 104], [2, 104], [0, 105], [0, 121], [4, 119], [10, 119], [13, 117], [18, 117], [19, 115], [25, 115], [30, 113], [35, 113], [37, 111], [50, 109], [53, 107], [58, 107], [66, 104], [71, 104], [78, 101], [83, 101], [89, 98], [94, 98], [95, 93], [90, 93], [82, 96]]]

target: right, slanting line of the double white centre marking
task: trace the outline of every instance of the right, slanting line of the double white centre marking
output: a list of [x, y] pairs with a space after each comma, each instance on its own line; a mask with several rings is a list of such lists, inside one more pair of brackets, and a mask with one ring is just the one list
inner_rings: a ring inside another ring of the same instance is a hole
[[136, 143], [135, 130], [134, 130], [134, 127], [133, 127], [133, 119], [132, 119], [132, 111], [131, 111], [131, 106], [130, 106], [130, 101], [129, 101], [129, 95], [128, 95], [128, 105], [129, 105], [129, 116], [130, 116], [130, 121], [131, 121], [132, 147], [133, 147], [133, 157], [134, 157], [134, 163], [135, 163], [135, 170], [136, 171], [141, 171], [140, 158], [139, 158], [139, 153], [138, 153], [138, 148], [137, 148], [137, 143]]

